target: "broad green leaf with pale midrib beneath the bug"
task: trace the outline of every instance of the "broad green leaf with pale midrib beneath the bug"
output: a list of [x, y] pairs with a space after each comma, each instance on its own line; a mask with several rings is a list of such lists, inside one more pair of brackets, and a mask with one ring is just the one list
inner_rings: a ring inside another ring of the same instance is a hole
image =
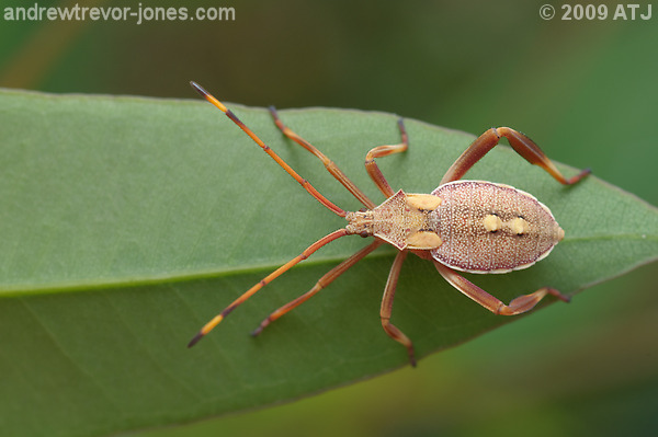
[[[316, 158], [283, 138], [266, 111], [229, 106], [332, 202], [361, 208]], [[363, 159], [374, 146], [398, 142], [397, 116], [327, 108], [281, 116], [383, 200]], [[3, 434], [162, 426], [290, 401], [407, 365], [378, 317], [390, 248], [259, 338], [247, 335], [362, 248], [355, 237], [321, 249], [185, 348], [232, 299], [344, 225], [217, 110], [192, 100], [5, 90], [0, 120]], [[430, 192], [473, 136], [411, 119], [406, 126], [410, 150], [378, 162], [394, 188]], [[551, 156], [551, 145], [538, 142]], [[566, 231], [530, 269], [469, 275], [504, 301], [542, 286], [572, 295], [657, 257], [656, 208], [595, 176], [563, 187], [500, 147], [467, 177], [533, 193]], [[519, 319], [466, 299], [427, 261], [409, 257], [402, 268], [394, 322], [420, 357]]]

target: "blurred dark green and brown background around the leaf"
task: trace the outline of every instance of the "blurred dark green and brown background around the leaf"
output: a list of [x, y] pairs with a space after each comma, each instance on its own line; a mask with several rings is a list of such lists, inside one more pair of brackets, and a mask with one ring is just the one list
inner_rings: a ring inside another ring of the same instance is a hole
[[[0, 4], [0, 87], [196, 99], [195, 80], [248, 105], [385, 111], [476, 135], [507, 125], [551, 158], [658, 204], [658, 10], [643, 20], [646, 3], [635, 20], [631, 9], [613, 20], [616, 3], [597, 2], [605, 20], [576, 20], [572, 10], [567, 21], [563, 3], [547, 0], [150, 0], [139, 4], [234, 8], [235, 20], [141, 24], [11, 21], [5, 8], [34, 3]], [[554, 7], [552, 20], [541, 18], [543, 4]], [[428, 191], [444, 170], [428, 173]], [[655, 435], [656, 273], [653, 264], [597, 285], [417, 369], [134, 435]]]

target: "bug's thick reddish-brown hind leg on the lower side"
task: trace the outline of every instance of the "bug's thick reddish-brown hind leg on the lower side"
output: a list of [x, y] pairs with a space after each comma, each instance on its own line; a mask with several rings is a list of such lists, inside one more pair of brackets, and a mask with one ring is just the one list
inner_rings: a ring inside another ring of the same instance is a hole
[[457, 290], [462, 291], [464, 295], [475, 300], [477, 303], [481, 304], [495, 314], [517, 315], [522, 312], [530, 311], [546, 295], [553, 295], [565, 302], [569, 301], [568, 296], [563, 295], [554, 288], [544, 287], [530, 295], [519, 296], [518, 298], [513, 299], [509, 306], [507, 306], [502, 303], [499, 299], [495, 298], [487, 291], [483, 290], [468, 279], [466, 279], [464, 276], [460, 275], [457, 272], [453, 271], [447, 266], [444, 266], [438, 261], [432, 261], [434, 262], [434, 266], [436, 267], [441, 276], [445, 278], [445, 280], [447, 280]]

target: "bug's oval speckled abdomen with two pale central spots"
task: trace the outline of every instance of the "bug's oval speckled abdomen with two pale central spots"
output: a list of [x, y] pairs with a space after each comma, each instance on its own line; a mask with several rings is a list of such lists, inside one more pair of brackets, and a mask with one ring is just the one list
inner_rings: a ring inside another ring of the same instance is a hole
[[506, 273], [544, 258], [564, 237], [551, 210], [509, 185], [456, 181], [441, 185], [432, 212], [443, 244], [434, 260], [470, 273]]

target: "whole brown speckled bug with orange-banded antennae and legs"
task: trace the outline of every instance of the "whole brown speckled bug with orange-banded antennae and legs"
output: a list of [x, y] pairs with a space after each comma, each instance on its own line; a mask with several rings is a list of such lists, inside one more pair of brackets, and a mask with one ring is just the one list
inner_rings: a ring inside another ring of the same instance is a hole
[[378, 146], [365, 156], [365, 170], [386, 197], [376, 205], [322, 152], [283, 124], [276, 110], [270, 108], [274, 123], [284, 136], [297, 142], [319, 158], [326, 169], [336, 177], [365, 209], [350, 212], [341, 209], [321, 195], [305, 179], [299, 176], [269, 146], [222, 102], [194, 82], [191, 85], [209, 103], [224, 112], [238, 125], [263, 151], [297, 181], [313, 197], [333, 214], [348, 220], [343, 229], [322, 237], [299, 255], [279, 267], [256, 284], [224, 311], [206, 323], [192, 338], [193, 346], [211, 332], [224, 318], [239, 304], [253, 296], [295, 264], [306, 260], [318, 249], [345, 235], [374, 237], [374, 241], [330, 269], [316, 285], [265, 318], [253, 331], [258, 335], [271, 322], [308, 300], [327, 287], [348, 268], [384, 243], [398, 250], [393, 262], [388, 280], [382, 298], [379, 315], [382, 326], [388, 336], [407, 348], [409, 361], [416, 366], [413, 344], [398, 327], [390, 323], [393, 299], [402, 262], [409, 252], [430, 260], [439, 273], [457, 290], [496, 314], [514, 315], [531, 310], [546, 295], [568, 301], [568, 297], [558, 290], [544, 287], [530, 295], [522, 295], [504, 304], [457, 273], [508, 273], [527, 268], [551, 253], [564, 238], [565, 232], [558, 226], [551, 210], [532, 195], [509, 185], [486, 181], [463, 181], [462, 176], [489, 150], [501, 137], [508, 139], [512, 148], [531, 164], [540, 165], [555, 180], [565, 185], [575, 184], [590, 173], [589, 169], [576, 176], [565, 179], [544, 152], [525, 135], [509, 127], [491, 128], [477, 138], [447, 170], [436, 189], [431, 194], [409, 194], [399, 189], [394, 192], [375, 162], [376, 158], [399, 153], [408, 148], [408, 136], [400, 119], [398, 127], [401, 142], [393, 146]]

